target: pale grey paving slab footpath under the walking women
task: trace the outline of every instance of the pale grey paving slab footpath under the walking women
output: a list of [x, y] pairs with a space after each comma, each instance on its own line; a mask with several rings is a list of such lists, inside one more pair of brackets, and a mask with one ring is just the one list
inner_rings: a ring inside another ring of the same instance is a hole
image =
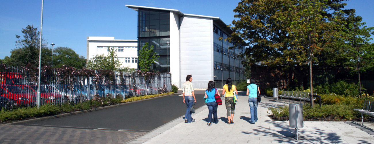
[[289, 122], [273, 121], [268, 117], [269, 107], [277, 107], [285, 103], [262, 98], [258, 104], [258, 122], [251, 124], [248, 96], [244, 96], [244, 92], [240, 94], [242, 96], [238, 96], [234, 123], [231, 125], [227, 124], [226, 107], [223, 104], [218, 106], [218, 124], [212, 123], [208, 126], [206, 122], [208, 107], [203, 106], [192, 115], [196, 122], [184, 123], [182, 116], [127, 143], [374, 143], [373, 123], [364, 123], [365, 126], [362, 127], [359, 122], [304, 122], [304, 128], [300, 128], [297, 141], [294, 137], [294, 128], [289, 128]]

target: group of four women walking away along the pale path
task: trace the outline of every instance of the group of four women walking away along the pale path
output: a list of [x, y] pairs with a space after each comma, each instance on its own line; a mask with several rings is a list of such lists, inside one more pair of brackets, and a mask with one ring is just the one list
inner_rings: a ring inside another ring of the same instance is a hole
[[[192, 85], [192, 76], [188, 75], [186, 77], [186, 82], [183, 84], [183, 102], [187, 105], [186, 115], [184, 116], [184, 119], [186, 123], [194, 122], [194, 119], [191, 117], [191, 107], [196, 102], [194, 89]], [[260, 89], [256, 85], [256, 82], [254, 79], [250, 79], [249, 85], [247, 86], [247, 93], [248, 95], [248, 103], [249, 103], [249, 110], [251, 111], [251, 123], [254, 124], [257, 122], [257, 91], [260, 94]], [[215, 95], [218, 94], [218, 96], [221, 97], [220, 93], [218, 92], [218, 89], [215, 88], [214, 82], [209, 81], [208, 82], [208, 89], [205, 91], [204, 98], [206, 99], [206, 105], [208, 106], [208, 126], [212, 125], [212, 119], [213, 123], [218, 123], [218, 117], [217, 117], [217, 108], [218, 108], [218, 102], [216, 101]], [[226, 116], [227, 116], [227, 122], [230, 125], [231, 123], [234, 123], [234, 114], [235, 114], [235, 101], [234, 101], [234, 95], [237, 94], [236, 86], [232, 85], [231, 78], [226, 79], [226, 85], [223, 86], [222, 90], [222, 96], [225, 96], [225, 105], [226, 105]], [[213, 117], [213, 118], [212, 118]]]

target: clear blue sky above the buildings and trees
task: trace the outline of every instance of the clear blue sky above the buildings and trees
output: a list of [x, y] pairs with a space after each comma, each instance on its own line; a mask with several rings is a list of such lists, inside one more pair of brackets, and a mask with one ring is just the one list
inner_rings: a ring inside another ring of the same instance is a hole
[[[137, 12], [126, 4], [178, 9], [183, 13], [217, 16], [226, 24], [234, 19], [233, 9], [240, 0], [45, 0], [43, 39], [49, 44], [74, 49], [87, 55], [88, 36], [137, 39]], [[347, 1], [346, 9], [356, 9], [369, 27], [374, 27], [374, 0]], [[34, 25], [40, 30], [42, 0], [0, 1], [0, 59], [15, 48], [15, 35]], [[373, 42], [373, 40], [371, 41]], [[49, 45], [50, 46], [50, 45]]]

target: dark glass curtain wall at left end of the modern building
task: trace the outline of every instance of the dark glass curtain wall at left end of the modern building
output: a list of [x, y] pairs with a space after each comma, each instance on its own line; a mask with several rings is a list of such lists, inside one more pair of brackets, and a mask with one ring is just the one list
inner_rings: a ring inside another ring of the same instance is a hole
[[168, 67], [170, 71], [170, 46], [168, 49], [166, 42], [170, 42], [170, 12], [139, 9], [138, 50], [141, 50], [145, 43], [149, 43], [150, 46], [154, 47], [153, 50], [157, 53], [156, 55], [160, 56], [156, 64], [151, 66], [153, 71], [168, 72]]

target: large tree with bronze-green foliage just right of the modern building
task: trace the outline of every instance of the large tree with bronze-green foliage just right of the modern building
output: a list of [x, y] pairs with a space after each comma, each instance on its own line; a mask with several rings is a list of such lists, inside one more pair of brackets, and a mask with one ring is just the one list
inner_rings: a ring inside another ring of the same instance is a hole
[[[338, 25], [346, 24], [347, 16], [355, 10], [344, 10], [346, 3], [341, 1], [243, 0], [234, 9], [238, 20], [233, 20], [232, 37], [227, 40], [234, 41], [234, 46], [247, 43], [245, 55], [249, 60], [243, 64], [281, 65], [293, 70], [301, 85], [309, 59], [315, 64], [329, 64], [327, 67], [338, 66], [344, 59], [339, 56], [344, 52], [338, 46], [342, 40], [332, 39], [339, 38], [341, 34], [335, 33]], [[308, 35], [311, 43], [305, 37]]]

